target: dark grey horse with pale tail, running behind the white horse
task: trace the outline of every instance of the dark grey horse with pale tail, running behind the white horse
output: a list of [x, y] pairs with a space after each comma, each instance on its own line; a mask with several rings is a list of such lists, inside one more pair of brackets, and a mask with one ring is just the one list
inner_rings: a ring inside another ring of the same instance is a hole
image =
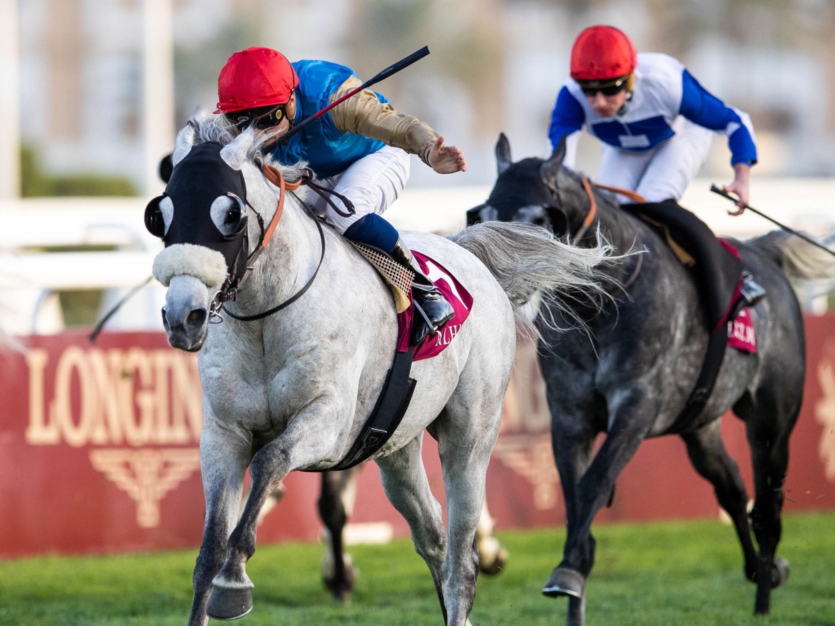
[[[782, 531], [782, 485], [788, 439], [800, 410], [805, 366], [802, 315], [787, 279], [832, 278], [832, 256], [783, 231], [733, 241], [747, 270], [767, 290], [751, 311], [757, 354], [728, 347], [704, 409], [677, 423], [706, 351], [707, 331], [688, 271], [655, 230], [594, 189], [597, 215], [582, 179], [562, 167], [564, 143], [549, 159], [513, 163], [504, 134], [496, 146], [498, 179], [487, 204], [469, 221], [519, 220], [553, 227], [579, 246], [646, 250], [612, 266], [621, 288], [602, 312], [575, 307], [586, 331], [544, 329], [539, 365], [551, 412], [552, 445], [562, 482], [567, 536], [564, 555], [543, 593], [569, 597], [569, 624], [584, 621], [585, 582], [595, 563], [591, 524], [610, 502], [620, 471], [647, 437], [676, 434], [696, 471], [713, 485], [731, 516], [757, 583], [755, 613], [768, 613], [771, 589], [788, 573], [775, 556]], [[584, 228], [584, 221], [587, 227]], [[549, 311], [558, 323], [562, 313]], [[756, 497], [749, 524], [745, 487], [721, 440], [720, 417], [732, 410], [746, 423]], [[594, 454], [595, 437], [605, 441]], [[757, 539], [759, 550], [751, 539]]]

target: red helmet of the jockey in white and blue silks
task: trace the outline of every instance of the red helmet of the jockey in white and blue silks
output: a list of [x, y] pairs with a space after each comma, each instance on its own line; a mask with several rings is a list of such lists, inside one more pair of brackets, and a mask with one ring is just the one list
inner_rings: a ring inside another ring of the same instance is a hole
[[614, 26], [590, 26], [571, 48], [571, 78], [602, 81], [632, 73], [638, 55], [630, 38]]

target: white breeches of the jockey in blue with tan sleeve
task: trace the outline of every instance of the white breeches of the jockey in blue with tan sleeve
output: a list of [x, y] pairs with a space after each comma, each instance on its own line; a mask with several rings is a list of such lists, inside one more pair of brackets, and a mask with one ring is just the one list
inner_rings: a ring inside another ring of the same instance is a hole
[[[316, 182], [330, 187], [334, 191], [351, 200], [357, 211], [350, 217], [337, 214], [324, 199], [316, 197], [314, 210], [318, 215], [326, 215], [328, 224], [336, 228], [340, 234], [348, 226], [359, 220], [363, 215], [382, 212], [397, 199], [406, 187], [409, 179], [409, 155], [402, 149], [383, 146], [372, 154], [359, 159], [342, 174]], [[340, 210], [345, 211], [342, 201], [336, 196], [330, 196]]]

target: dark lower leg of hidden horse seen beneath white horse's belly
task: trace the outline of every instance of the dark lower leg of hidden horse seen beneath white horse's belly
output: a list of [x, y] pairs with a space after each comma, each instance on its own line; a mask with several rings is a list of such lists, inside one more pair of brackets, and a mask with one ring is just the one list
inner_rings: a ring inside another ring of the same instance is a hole
[[326, 554], [322, 560], [321, 578], [334, 598], [345, 601], [356, 579], [351, 555], [345, 552], [343, 530], [357, 499], [357, 481], [362, 465], [342, 472], [321, 473], [319, 516], [325, 524]]

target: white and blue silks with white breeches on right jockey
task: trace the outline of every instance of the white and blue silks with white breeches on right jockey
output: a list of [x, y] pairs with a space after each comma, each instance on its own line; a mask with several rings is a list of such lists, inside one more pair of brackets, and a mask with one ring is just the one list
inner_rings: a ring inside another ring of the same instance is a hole
[[576, 80], [564, 83], [551, 113], [549, 139], [555, 147], [569, 135], [566, 165], [574, 165], [575, 133], [584, 127], [603, 143], [597, 182], [656, 202], [681, 199], [705, 162], [714, 132], [727, 135], [732, 166], [757, 163], [748, 114], [708, 92], [675, 58], [639, 53], [634, 76], [634, 88], [613, 117], [596, 113], [593, 98]]

